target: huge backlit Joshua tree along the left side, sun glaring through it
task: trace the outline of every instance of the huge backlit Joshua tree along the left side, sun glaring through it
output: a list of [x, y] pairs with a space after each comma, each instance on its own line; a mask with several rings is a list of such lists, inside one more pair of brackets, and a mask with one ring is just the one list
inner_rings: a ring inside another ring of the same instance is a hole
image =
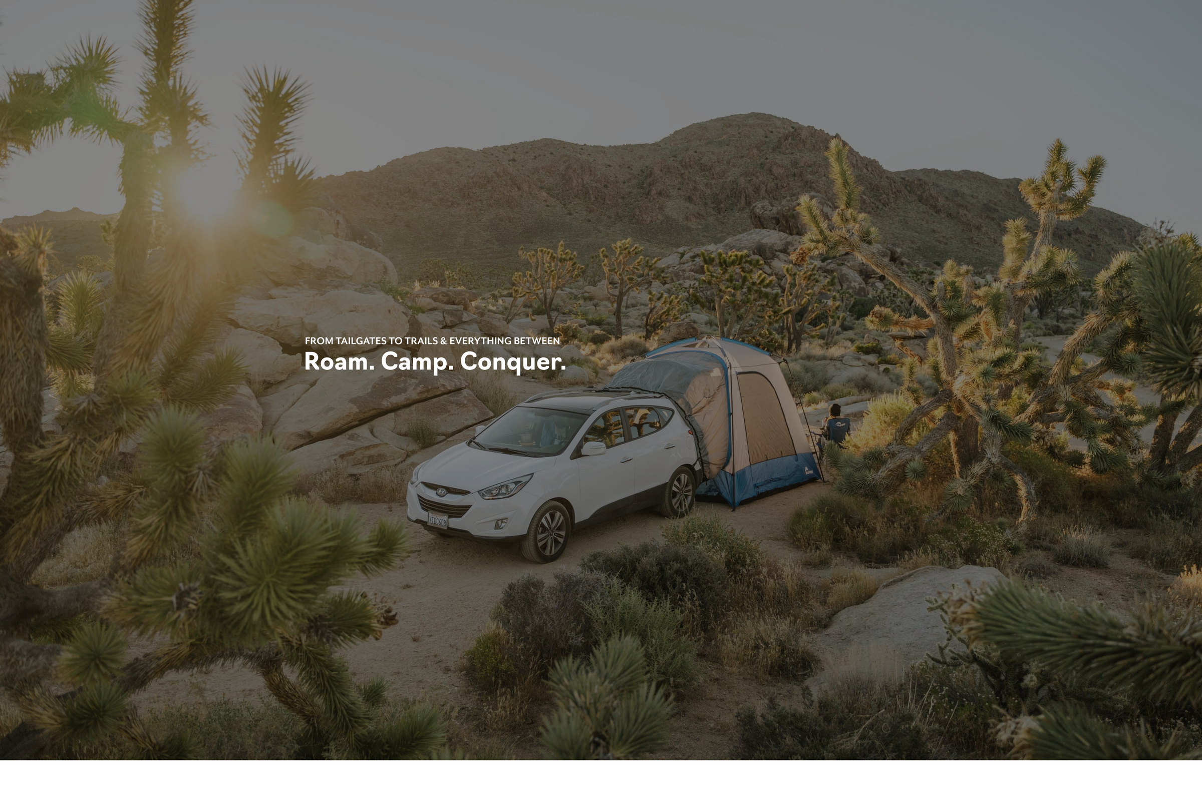
[[[206, 124], [182, 71], [190, 5], [143, 2], [135, 109], [108, 92], [115, 53], [103, 42], [14, 74], [0, 100], [10, 120], [0, 150], [64, 131], [107, 138], [123, 151], [125, 196], [111, 232], [112, 295], [75, 276], [59, 287], [53, 319], [42, 295], [48, 238], [0, 233], [0, 431], [13, 454], [0, 495], [0, 687], [25, 711], [0, 746], [10, 755], [114, 728], [145, 752], [178, 753], [179, 741], [149, 739], [129, 693], [168, 671], [232, 660], [263, 675], [315, 747], [350, 747], [373, 730], [368, 707], [380, 687], [356, 689], [334, 652], [394, 618], [329, 587], [391, 564], [403, 531], [383, 524], [361, 539], [351, 518], [286, 500], [284, 454], [267, 442], [212, 447], [195, 418], [242, 379], [234, 353], [207, 353], [215, 324], [232, 288], [307, 204], [311, 172], [292, 157], [304, 85], [255, 71], [244, 83], [236, 208], [206, 225], [182, 202], [179, 181], [202, 157]], [[151, 250], [151, 239], [161, 246]], [[41, 429], [50, 382], [59, 434]], [[139, 431], [131, 472], [119, 450]], [[53, 590], [30, 582], [67, 533], [97, 524], [117, 526], [124, 543], [105, 578]], [[202, 556], [180, 555], [191, 539], [204, 543]], [[167, 642], [126, 662], [130, 632]], [[54, 695], [54, 679], [76, 689]]]

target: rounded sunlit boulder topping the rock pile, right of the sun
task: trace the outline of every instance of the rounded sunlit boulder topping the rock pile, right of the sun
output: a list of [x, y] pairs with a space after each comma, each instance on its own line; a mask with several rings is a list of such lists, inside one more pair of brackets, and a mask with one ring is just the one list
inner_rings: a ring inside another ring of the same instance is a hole
[[353, 241], [333, 235], [313, 243], [286, 237], [263, 274], [279, 285], [302, 281], [353, 281], [355, 283], [397, 282], [397, 268], [388, 257]]

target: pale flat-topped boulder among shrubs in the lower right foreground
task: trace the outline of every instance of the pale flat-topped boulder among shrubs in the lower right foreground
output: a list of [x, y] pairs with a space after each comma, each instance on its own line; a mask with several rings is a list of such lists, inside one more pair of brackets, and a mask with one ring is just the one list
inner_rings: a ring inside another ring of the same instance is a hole
[[938, 611], [927, 611], [928, 598], [952, 586], [981, 587], [1005, 576], [992, 567], [966, 564], [957, 569], [923, 567], [882, 584], [876, 594], [849, 606], [815, 636], [823, 670], [810, 679], [820, 689], [841, 676], [900, 676], [928, 653], [936, 653], [947, 635]]

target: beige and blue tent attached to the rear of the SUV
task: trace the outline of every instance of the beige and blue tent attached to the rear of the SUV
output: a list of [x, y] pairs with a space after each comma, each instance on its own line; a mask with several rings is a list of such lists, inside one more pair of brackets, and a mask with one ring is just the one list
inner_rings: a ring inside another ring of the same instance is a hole
[[814, 452], [780, 365], [766, 351], [702, 336], [656, 348], [613, 377], [607, 389], [661, 393], [697, 437], [701, 495], [731, 508], [819, 477]]

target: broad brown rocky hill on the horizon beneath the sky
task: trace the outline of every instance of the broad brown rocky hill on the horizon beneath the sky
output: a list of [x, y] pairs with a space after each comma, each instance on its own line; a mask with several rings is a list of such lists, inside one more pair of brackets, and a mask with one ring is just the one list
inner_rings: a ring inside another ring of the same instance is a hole
[[[746, 231], [756, 203], [828, 193], [822, 154], [831, 137], [780, 116], [739, 114], [650, 144], [537, 139], [483, 150], [439, 148], [321, 184], [347, 217], [381, 237], [403, 276], [426, 258], [462, 261], [499, 276], [517, 267], [519, 245], [564, 239], [591, 253], [632, 237], [664, 255], [727, 239]], [[1042, 156], [1031, 154], [1033, 174]], [[1027, 214], [1017, 178], [889, 172], [855, 150], [852, 161], [864, 210], [885, 240], [916, 262], [956, 258], [992, 271], [1001, 258], [1002, 223]], [[1093, 209], [1060, 223], [1057, 241], [1076, 250], [1093, 273], [1114, 251], [1133, 246], [1141, 228]]]

